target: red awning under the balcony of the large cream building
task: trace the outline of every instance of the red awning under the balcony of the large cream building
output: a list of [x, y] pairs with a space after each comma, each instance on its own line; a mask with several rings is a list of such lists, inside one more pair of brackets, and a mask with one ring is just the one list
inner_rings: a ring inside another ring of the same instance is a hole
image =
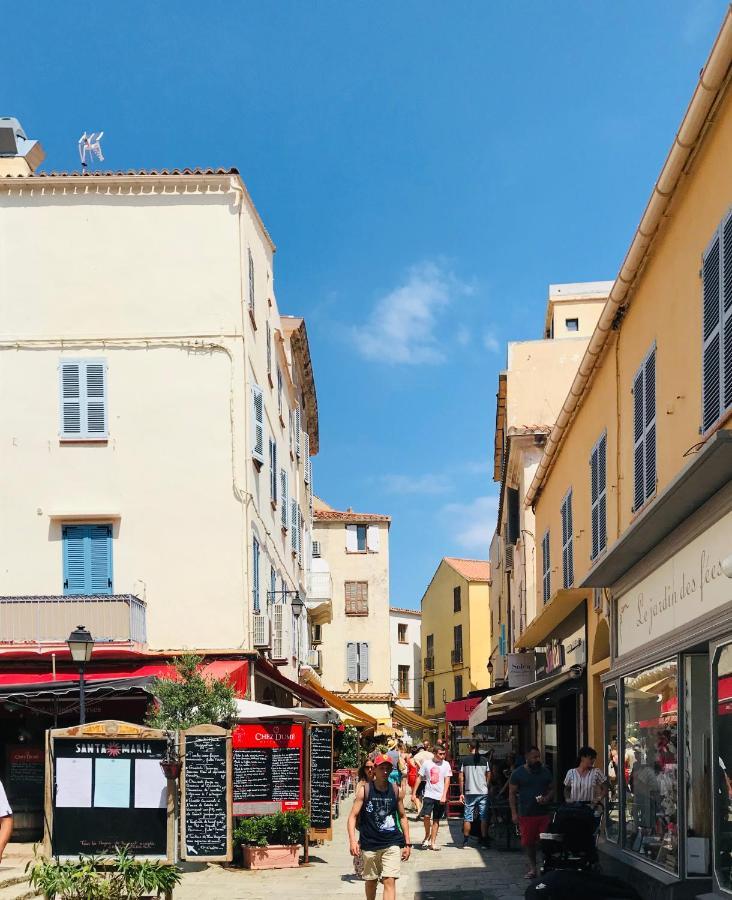
[[[36, 667], [34, 667], [36, 668]], [[203, 674], [220, 680], [228, 678], [233, 684], [237, 697], [243, 697], [248, 687], [249, 662], [245, 659], [216, 659], [206, 663]], [[132, 662], [123, 661], [114, 665], [111, 661], [104, 666], [90, 663], [84, 672], [84, 681], [105, 681], [114, 683], [129, 679], [174, 678], [175, 668], [166, 662]], [[16, 668], [0, 672], [0, 689], [8, 693], [11, 688], [33, 688], [35, 691], [52, 691], [54, 687], [78, 682], [79, 673], [68, 670], [66, 666], [57, 669], [56, 677], [44, 666], [44, 671]]]

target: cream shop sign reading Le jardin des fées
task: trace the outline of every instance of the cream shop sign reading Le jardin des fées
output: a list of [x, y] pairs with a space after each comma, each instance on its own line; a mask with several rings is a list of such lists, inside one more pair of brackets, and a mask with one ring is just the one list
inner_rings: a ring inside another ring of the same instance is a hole
[[732, 581], [722, 571], [731, 535], [732, 513], [727, 513], [618, 597], [619, 656], [732, 600]]

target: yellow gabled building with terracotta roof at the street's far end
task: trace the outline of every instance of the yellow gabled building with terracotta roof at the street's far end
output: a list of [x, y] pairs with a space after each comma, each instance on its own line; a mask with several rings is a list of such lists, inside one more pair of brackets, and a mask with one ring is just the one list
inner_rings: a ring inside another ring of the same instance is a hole
[[422, 597], [422, 714], [445, 734], [445, 704], [488, 687], [490, 563], [442, 559]]

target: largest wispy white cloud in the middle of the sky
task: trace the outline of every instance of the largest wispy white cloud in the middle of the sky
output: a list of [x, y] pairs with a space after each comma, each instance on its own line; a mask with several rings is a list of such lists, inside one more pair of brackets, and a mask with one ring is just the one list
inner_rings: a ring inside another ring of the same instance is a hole
[[403, 284], [376, 301], [367, 321], [351, 329], [356, 349], [377, 362], [441, 363], [438, 319], [456, 297], [471, 292], [437, 263], [413, 266]]

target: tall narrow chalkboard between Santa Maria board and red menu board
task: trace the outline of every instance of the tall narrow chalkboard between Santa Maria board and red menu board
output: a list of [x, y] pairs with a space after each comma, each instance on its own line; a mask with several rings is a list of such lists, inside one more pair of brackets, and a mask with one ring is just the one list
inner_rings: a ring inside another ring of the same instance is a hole
[[203, 725], [184, 732], [183, 859], [231, 860], [229, 735]]

